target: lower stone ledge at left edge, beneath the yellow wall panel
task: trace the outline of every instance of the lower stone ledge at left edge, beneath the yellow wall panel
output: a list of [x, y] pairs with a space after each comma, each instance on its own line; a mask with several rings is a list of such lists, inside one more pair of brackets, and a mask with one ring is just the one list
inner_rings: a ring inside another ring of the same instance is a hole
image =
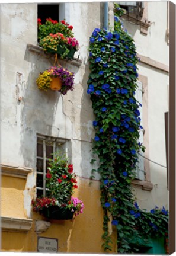
[[1, 229], [8, 232], [24, 232], [30, 231], [33, 224], [32, 219], [20, 219], [13, 217], [1, 216]]

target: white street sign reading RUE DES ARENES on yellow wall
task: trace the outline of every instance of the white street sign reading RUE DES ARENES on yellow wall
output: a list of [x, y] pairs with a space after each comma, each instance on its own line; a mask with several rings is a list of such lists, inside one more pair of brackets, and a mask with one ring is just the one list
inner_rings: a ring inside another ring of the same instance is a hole
[[38, 252], [56, 253], [57, 247], [58, 247], [58, 239], [38, 237], [38, 242], [37, 242]]

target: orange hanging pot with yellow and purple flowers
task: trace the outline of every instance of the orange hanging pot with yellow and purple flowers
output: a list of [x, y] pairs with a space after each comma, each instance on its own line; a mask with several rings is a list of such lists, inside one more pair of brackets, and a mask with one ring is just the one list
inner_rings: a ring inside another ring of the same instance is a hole
[[65, 95], [67, 91], [73, 91], [74, 73], [61, 65], [52, 66], [39, 74], [36, 83], [39, 89], [44, 91], [52, 89]]

